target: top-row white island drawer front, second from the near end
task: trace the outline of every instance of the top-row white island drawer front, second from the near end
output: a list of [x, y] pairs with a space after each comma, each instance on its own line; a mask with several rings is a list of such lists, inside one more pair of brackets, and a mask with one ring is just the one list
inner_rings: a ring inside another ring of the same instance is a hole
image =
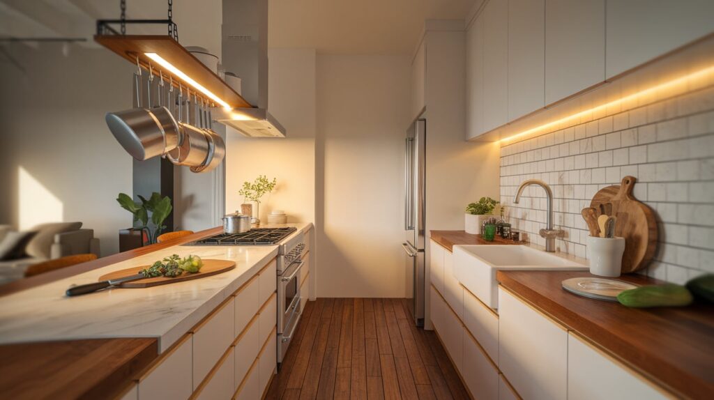
[[216, 309], [211, 317], [196, 327], [193, 332], [193, 389], [196, 390], [201, 381], [216, 365], [218, 359], [233, 343], [235, 300]]

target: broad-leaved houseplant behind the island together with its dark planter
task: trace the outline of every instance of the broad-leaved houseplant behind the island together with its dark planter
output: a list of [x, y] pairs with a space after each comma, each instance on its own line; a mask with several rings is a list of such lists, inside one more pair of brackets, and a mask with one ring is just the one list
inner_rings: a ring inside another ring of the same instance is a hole
[[[134, 216], [134, 226], [119, 231], [120, 252], [156, 243], [156, 237], [159, 237], [161, 232], [166, 229], [164, 225], [166, 217], [169, 217], [171, 210], [174, 209], [169, 196], [162, 198], [161, 194], [156, 192], [151, 193], [149, 200], [139, 195], [139, 200], [141, 200], [141, 204], [134, 202], [125, 193], [119, 193], [116, 198], [119, 205]], [[151, 213], [151, 223], [149, 223], [149, 213]]]

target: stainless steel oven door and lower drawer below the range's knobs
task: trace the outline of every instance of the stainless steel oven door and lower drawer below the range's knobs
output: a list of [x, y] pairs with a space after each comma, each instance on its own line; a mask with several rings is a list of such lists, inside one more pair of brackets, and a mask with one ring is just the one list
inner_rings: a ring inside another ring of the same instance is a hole
[[303, 265], [302, 260], [295, 260], [278, 275], [278, 362], [290, 345], [302, 312], [299, 280]]

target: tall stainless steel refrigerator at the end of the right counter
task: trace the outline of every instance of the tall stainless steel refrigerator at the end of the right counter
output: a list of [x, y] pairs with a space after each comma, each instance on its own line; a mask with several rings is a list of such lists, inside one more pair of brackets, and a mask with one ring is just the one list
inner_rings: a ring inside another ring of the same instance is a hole
[[426, 245], [426, 119], [418, 118], [406, 135], [404, 168], [404, 230], [406, 241], [406, 292], [410, 311], [418, 327], [424, 325]]

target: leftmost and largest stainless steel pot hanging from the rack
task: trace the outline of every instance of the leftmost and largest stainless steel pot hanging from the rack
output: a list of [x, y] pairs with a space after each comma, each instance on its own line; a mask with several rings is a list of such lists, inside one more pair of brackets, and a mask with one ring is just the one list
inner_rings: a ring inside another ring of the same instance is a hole
[[178, 125], [166, 107], [106, 113], [105, 120], [121, 147], [137, 160], [164, 155], [178, 145]]

